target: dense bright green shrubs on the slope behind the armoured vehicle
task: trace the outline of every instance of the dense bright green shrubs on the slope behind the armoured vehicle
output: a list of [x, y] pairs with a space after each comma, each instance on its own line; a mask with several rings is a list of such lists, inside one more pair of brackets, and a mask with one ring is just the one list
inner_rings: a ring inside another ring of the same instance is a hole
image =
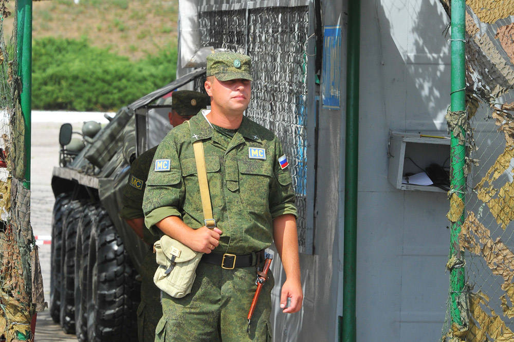
[[32, 107], [117, 110], [175, 79], [176, 48], [137, 62], [75, 41], [36, 39], [32, 48]]

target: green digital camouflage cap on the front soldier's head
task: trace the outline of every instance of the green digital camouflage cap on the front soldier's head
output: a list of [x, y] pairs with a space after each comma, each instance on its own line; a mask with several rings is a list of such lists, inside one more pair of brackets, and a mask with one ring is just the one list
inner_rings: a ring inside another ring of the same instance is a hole
[[235, 52], [216, 52], [207, 56], [207, 76], [219, 81], [243, 78], [253, 81], [249, 56]]

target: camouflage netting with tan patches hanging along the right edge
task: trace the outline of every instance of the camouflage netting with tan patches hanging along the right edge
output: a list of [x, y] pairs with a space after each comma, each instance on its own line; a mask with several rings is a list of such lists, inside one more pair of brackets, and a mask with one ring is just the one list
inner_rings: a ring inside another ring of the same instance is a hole
[[[449, 13], [449, 1], [440, 2]], [[514, 340], [513, 42], [514, 2], [466, 2], [466, 112], [447, 115], [450, 129], [466, 132], [465, 203], [452, 193], [448, 213], [452, 223], [465, 215], [460, 257], [447, 265], [463, 268], [466, 287], [450, 289], [446, 341]], [[450, 318], [456, 309], [462, 324]]]

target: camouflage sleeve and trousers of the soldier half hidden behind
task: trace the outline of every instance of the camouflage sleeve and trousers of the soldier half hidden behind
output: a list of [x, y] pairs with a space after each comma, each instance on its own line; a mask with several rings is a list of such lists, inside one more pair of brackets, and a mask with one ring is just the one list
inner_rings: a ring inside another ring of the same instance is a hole
[[[148, 177], [157, 146], [141, 154], [131, 165], [128, 182], [123, 188], [123, 208], [120, 216], [125, 219], [144, 217], [141, 205]], [[153, 246], [158, 239], [148, 229], [143, 229], [143, 240]], [[153, 341], [157, 322], [162, 317], [160, 290], [154, 284], [154, 273], [157, 269], [155, 254], [151, 247], [146, 251], [141, 265], [141, 303], [137, 308], [137, 333], [139, 342]]]

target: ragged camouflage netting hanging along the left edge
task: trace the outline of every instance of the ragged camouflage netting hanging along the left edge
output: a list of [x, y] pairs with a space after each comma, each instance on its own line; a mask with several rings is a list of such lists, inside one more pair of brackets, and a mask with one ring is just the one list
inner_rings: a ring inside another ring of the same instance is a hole
[[14, 2], [0, 1], [0, 340], [31, 340], [30, 323], [44, 309], [38, 248], [30, 226], [24, 118], [16, 65], [16, 27], [4, 41], [3, 19]]

